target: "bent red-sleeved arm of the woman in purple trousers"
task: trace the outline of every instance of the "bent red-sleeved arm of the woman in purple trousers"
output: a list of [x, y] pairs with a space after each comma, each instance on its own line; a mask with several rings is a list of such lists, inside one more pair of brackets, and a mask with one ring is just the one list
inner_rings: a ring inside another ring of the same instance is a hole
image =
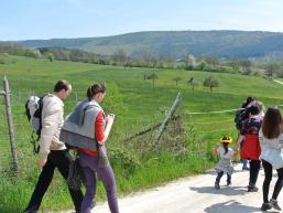
[[111, 127], [113, 124], [113, 118], [107, 116], [106, 118], [106, 128], [104, 127], [104, 111], [99, 111], [95, 121], [96, 125], [96, 140], [99, 145], [102, 145], [108, 139]]

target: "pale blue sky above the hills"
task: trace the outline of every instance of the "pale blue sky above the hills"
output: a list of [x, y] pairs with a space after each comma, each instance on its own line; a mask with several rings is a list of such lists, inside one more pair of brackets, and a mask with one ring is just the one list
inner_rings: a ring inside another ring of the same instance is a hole
[[283, 32], [282, 0], [1, 0], [0, 41], [138, 31]]

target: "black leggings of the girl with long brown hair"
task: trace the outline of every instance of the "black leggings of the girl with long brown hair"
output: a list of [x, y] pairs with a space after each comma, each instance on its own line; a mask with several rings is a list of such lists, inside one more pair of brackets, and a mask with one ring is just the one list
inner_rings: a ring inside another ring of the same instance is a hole
[[[270, 182], [272, 180], [272, 164], [270, 164], [265, 160], [262, 160], [262, 166], [263, 166], [264, 174], [265, 174], [263, 185], [262, 185], [263, 202], [268, 203], [269, 202]], [[279, 179], [275, 183], [274, 191], [272, 194], [272, 199], [274, 199], [274, 200], [277, 200], [277, 196], [282, 189], [282, 183], [283, 183], [283, 168], [280, 168], [276, 171], [277, 171]]]

